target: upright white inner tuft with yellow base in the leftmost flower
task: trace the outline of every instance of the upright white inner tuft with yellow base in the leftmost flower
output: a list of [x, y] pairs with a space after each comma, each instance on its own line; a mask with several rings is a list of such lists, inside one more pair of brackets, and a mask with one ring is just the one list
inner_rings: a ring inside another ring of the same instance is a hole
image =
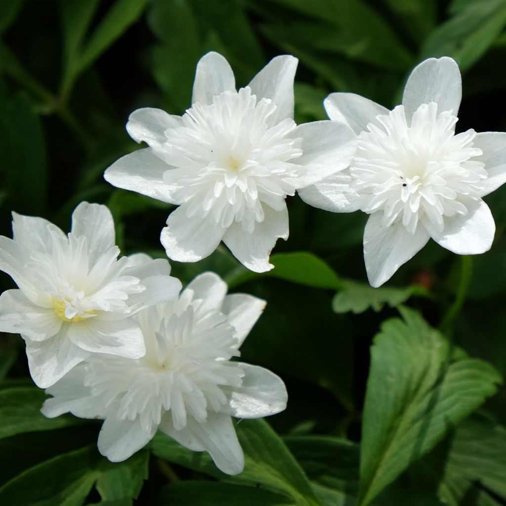
[[128, 259], [117, 260], [118, 254], [114, 246], [90, 265], [86, 236], [69, 234], [67, 240], [53, 233], [51, 252], [33, 255], [26, 267], [50, 298], [55, 313], [64, 321], [76, 322], [100, 311], [129, 313], [130, 294], [146, 289], [139, 278], [122, 275]]

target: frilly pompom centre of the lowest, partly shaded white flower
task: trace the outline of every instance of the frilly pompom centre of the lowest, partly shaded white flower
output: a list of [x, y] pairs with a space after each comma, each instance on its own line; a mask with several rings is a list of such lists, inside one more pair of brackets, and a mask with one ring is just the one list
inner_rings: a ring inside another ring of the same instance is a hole
[[146, 355], [138, 360], [109, 357], [90, 359], [86, 385], [100, 396], [107, 411], [120, 419], [140, 419], [144, 430], [160, 424], [170, 412], [176, 430], [187, 417], [202, 423], [207, 412], [219, 412], [227, 402], [222, 387], [238, 387], [244, 375], [234, 329], [224, 315], [197, 315], [190, 305], [163, 318], [159, 331], [145, 335]]

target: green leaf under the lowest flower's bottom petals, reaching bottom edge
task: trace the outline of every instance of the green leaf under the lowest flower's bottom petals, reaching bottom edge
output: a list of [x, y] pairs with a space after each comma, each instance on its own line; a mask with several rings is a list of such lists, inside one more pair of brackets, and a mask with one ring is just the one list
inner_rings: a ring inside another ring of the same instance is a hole
[[260, 484], [300, 506], [318, 504], [301, 467], [266, 421], [240, 420], [236, 430], [245, 459], [244, 471], [236, 476], [221, 473], [206, 452], [192, 452], [164, 434], [158, 433], [149, 447], [158, 457], [221, 480], [253, 487]]

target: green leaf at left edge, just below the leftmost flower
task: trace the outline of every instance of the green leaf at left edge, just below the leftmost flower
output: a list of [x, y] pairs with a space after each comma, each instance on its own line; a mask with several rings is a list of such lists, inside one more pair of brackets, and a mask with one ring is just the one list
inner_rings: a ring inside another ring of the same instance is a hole
[[70, 415], [46, 418], [40, 412], [45, 399], [44, 391], [34, 387], [0, 390], [0, 439], [82, 423], [82, 420]]

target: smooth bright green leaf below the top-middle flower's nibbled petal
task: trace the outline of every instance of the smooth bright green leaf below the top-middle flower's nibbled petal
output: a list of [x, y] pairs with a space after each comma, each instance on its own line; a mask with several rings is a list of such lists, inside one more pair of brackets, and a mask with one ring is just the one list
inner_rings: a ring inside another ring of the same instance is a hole
[[[293, 283], [314, 288], [339, 288], [341, 280], [332, 268], [316, 255], [308, 251], [277, 253], [270, 259], [274, 269], [261, 276], [272, 276]], [[259, 275], [244, 269], [234, 277], [227, 278], [229, 286], [236, 286]]]

